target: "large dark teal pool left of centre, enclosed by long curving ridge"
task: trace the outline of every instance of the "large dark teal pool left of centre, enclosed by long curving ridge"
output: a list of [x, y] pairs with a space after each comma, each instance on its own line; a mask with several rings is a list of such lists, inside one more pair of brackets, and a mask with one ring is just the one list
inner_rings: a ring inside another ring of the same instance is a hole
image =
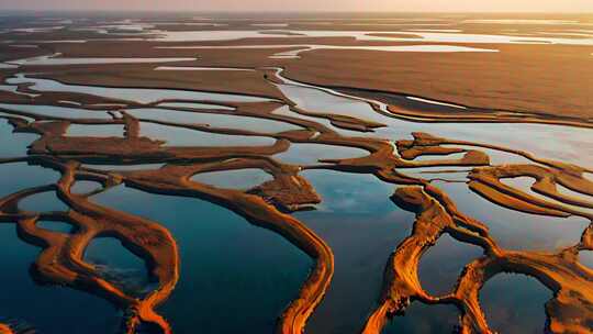
[[281, 236], [206, 201], [125, 187], [92, 199], [149, 218], [172, 233], [180, 280], [159, 311], [176, 333], [272, 333], [312, 266]]

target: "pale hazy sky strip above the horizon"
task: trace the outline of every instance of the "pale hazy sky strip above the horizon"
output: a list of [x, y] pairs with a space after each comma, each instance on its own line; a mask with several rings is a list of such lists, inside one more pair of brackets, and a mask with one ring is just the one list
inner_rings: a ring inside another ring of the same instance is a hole
[[593, 0], [0, 0], [0, 9], [593, 12]]

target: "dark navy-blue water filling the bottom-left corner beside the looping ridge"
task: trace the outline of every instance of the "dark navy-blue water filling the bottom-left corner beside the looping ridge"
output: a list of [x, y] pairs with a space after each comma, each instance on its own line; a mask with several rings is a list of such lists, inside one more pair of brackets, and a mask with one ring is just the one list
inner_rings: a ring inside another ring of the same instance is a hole
[[115, 334], [121, 312], [108, 301], [70, 288], [41, 286], [29, 271], [40, 248], [16, 236], [10, 223], [0, 223], [0, 316], [34, 326], [43, 334]]

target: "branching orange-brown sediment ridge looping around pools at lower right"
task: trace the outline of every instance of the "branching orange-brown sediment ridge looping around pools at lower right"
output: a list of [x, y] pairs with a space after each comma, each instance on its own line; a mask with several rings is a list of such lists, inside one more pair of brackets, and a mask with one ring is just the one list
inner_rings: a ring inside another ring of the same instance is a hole
[[[414, 300], [456, 305], [461, 312], [461, 333], [493, 333], [478, 294], [490, 278], [501, 272], [535, 277], [555, 292], [546, 303], [547, 330], [552, 333], [586, 333], [590, 330], [593, 271], [577, 263], [578, 250], [590, 245], [581, 242], [558, 253], [505, 250], [496, 245], [481, 223], [460, 213], [447, 196], [433, 186], [399, 188], [393, 199], [403, 208], [415, 211], [416, 222], [413, 234], [391, 257], [385, 269], [382, 300], [369, 316], [363, 333], [380, 333], [388, 318], [405, 312]], [[419, 285], [417, 265], [422, 254], [443, 233], [481, 246], [484, 256], [466, 266], [454, 292], [433, 297]]]

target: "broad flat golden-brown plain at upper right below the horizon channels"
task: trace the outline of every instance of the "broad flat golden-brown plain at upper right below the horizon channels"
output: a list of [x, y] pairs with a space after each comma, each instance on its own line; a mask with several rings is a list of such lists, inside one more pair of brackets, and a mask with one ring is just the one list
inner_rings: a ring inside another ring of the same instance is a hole
[[[583, 122], [591, 119], [591, 92], [580, 85], [593, 78], [590, 47], [462, 45], [500, 52], [444, 54], [317, 49], [302, 54], [298, 62], [287, 63], [284, 75], [324, 87], [429, 97], [480, 109], [567, 116]], [[434, 78], [439, 79], [435, 81]], [[510, 87], [511, 82], [513, 87]], [[436, 114], [439, 115], [438, 112]]]

